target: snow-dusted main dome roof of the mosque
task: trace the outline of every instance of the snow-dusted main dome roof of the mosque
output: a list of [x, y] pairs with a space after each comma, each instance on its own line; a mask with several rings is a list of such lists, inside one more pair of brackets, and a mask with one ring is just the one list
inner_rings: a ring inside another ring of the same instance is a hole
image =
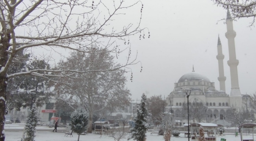
[[180, 82], [184, 82], [185, 80], [187, 81], [207, 81], [207, 82], [211, 82], [206, 76], [203, 76], [201, 74], [198, 74], [196, 72], [190, 72], [187, 74], [184, 74], [178, 81], [178, 83]]

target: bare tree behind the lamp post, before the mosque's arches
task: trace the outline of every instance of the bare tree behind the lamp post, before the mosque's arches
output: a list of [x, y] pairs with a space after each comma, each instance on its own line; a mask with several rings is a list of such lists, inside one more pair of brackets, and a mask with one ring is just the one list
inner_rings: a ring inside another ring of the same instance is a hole
[[[204, 118], [206, 118], [205, 110], [206, 105], [203, 101], [198, 101], [198, 99], [195, 99], [193, 102], [189, 102], [189, 119], [197, 122], [201, 122]], [[187, 103], [183, 103], [182, 105], [182, 117], [184, 119], [187, 119]]]

